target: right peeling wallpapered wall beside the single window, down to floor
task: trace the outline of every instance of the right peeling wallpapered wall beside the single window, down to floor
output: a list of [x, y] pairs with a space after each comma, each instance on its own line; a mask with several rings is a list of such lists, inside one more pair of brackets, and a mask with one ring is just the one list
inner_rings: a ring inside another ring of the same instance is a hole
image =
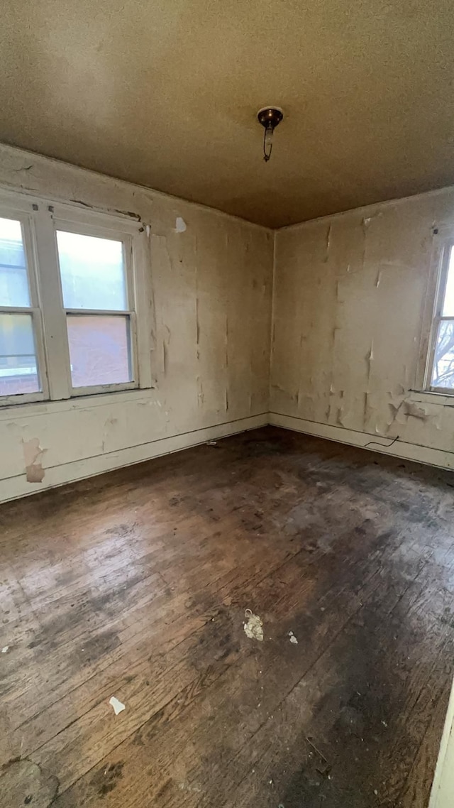
[[452, 400], [412, 392], [433, 232], [452, 225], [447, 188], [276, 233], [272, 423], [358, 445], [399, 436], [392, 453], [454, 466]]

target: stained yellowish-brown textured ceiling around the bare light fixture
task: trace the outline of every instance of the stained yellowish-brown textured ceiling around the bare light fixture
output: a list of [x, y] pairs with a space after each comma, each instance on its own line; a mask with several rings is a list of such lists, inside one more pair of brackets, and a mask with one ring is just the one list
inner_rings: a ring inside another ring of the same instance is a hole
[[0, 19], [7, 143], [272, 227], [454, 183], [452, 0], [3, 0]]

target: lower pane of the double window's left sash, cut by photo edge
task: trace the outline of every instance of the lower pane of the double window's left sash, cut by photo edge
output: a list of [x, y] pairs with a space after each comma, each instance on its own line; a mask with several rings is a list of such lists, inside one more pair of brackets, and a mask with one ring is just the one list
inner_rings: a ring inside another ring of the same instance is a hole
[[38, 390], [32, 315], [0, 314], [0, 396]]

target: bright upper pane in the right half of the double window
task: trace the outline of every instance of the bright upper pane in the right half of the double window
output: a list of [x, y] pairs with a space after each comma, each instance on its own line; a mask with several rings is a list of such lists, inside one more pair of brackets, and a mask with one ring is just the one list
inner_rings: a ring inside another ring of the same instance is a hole
[[65, 309], [128, 309], [123, 242], [57, 230]]

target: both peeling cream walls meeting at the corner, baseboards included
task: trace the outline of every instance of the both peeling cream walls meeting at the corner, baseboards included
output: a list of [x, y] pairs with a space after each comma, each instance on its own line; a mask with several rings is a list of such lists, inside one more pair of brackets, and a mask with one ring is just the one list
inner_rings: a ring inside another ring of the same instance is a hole
[[452, 398], [418, 393], [454, 188], [273, 233], [6, 145], [0, 187], [141, 218], [153, 373], [149, 390], [0, 409], [0, 499], [264, 423], [454, 468]]

